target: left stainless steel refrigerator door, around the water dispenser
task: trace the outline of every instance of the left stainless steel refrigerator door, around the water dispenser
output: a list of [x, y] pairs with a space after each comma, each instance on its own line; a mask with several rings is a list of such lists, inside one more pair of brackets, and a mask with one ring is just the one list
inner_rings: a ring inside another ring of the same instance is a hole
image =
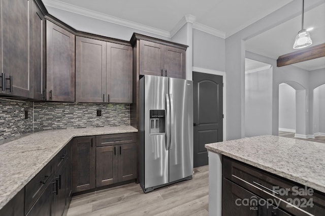
[[150, 75], [144, 78], [144, 186], [150, 188], [169, 182], [166, 134], [150, 135], [150, 110], [166, 110], [169, 80]]

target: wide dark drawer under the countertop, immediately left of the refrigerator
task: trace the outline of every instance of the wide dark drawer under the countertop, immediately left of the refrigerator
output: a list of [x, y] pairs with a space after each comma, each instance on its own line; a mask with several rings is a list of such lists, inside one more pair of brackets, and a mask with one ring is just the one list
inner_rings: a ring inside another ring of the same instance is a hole
[[111, 134], [96, 137], [96, 147], [136, 143], [137, 133]]

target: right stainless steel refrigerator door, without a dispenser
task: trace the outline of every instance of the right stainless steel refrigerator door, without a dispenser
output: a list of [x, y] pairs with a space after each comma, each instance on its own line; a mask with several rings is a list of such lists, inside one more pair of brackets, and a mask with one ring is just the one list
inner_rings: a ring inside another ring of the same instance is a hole
[[170, 78], [171, 145], [169, 181], [193, 174], [193, 82]]

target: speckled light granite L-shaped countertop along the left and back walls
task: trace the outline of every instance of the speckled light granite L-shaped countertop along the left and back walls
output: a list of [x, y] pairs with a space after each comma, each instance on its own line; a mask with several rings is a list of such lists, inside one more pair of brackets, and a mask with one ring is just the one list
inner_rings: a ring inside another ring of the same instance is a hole
[[0, 145], [0, 209], [74, 137], [138, 132], [132, 126], [36, 132]]

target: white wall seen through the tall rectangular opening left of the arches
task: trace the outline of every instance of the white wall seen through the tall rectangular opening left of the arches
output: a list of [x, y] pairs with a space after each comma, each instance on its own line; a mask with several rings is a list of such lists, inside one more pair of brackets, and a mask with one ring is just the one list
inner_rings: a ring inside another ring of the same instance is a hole
[[272, 134], [272, 68], [245, 74], [245, 136]]

